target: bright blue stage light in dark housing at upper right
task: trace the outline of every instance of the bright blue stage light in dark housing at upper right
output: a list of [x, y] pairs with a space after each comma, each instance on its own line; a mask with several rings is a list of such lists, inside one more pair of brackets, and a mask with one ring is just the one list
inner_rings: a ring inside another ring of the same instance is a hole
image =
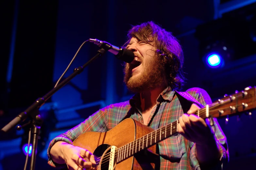
[[249, 13], [240, 18], [230, 14], [199, 25], [195, 37], [199, 40], [199, 57], [204, 65], [221, 69], [224, 64], [255, 54], [255, 18]]

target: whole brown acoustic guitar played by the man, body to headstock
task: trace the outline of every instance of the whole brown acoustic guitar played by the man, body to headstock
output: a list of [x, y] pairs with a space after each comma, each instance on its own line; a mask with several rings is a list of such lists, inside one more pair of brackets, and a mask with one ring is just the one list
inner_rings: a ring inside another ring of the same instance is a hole
[[[198, 110], [195, 115], [206, 118], [228, 118], [256, 108], [256, 88], [246, 88], [215, 101]], [[251, 112], [248, 112], [250, 115]], [[86, 132], [74, 141], [75, 146], [87, 149], [95, 156], [99, 170], [155, 169], [159, 166], [156, 145], [177, 134], [176, 120], [157, 130], [131, 118], [121, 121], [107, 132]]]

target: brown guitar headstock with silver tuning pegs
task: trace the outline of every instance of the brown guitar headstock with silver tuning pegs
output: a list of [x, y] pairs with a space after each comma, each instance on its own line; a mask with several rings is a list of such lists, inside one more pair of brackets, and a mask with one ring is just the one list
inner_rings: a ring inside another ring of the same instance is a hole
[[218, 99], [209, 106], [209, 115], [215, 118], [237, 115], [256, 108], [256, 87], [245, 88], [234, 94]]

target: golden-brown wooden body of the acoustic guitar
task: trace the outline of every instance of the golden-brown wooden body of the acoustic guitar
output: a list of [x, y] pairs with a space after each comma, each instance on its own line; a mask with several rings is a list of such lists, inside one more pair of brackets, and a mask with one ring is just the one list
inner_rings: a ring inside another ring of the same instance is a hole
[[[79, 135], [74, 141], [74, 146], [87, 149], [97, 157], [109, 155], [111, 146], [120, 148], [127, 143], [130, 143], [141, 136], [147, 135], [154, 131], [152, 128], [131, 118], [120, 122], [116, 127], [107, 132], [86, 132]], [[107, 152], [108, 151], [108, 152]], [[128, 153], [127, 153], [128, 154]], [[131, 156], [117, 164], [115, 170], [141, 170], [155, 169], [155, 164], [159, 163], [156, 154], [156, 145], [148, 149], [141, 150], [135, 156]], [[108, 157], [109, 158], [109, 157]], [[99, 160], [100, 158], [98, 158]], [[109, 160], [109, 159], [105, 159]], [[96, 161], [97, 162], [97, 161]], [[109, 170], [108, 163], [101, 160], [97, 166], [99, 170]]]

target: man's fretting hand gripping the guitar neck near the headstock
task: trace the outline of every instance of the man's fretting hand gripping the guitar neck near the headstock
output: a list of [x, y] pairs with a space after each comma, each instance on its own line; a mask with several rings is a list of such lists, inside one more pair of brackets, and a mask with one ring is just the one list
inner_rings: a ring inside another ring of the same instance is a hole
[[214, 132], [202, 118], [193, 114], [199, 109], [192, 104], [187, 114], [179, 118], [178, 132], [197, 145], [205, 145], [215, 140]]

